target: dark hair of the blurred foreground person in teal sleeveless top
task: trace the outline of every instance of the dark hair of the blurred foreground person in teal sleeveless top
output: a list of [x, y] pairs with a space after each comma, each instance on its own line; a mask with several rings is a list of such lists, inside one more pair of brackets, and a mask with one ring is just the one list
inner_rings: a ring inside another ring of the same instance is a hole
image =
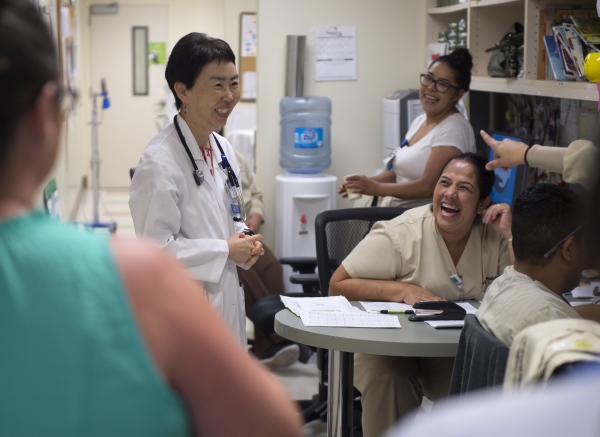
[[19, 120], [48, 82], [58, 82], [58, 62], [38, 8], [0, 0], [0, 165], [10, 156]]

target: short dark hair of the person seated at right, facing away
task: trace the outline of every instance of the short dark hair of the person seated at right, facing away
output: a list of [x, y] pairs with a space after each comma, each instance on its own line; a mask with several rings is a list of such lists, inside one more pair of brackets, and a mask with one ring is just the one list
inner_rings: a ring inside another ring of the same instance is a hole
[[548, 261], [544, 254], [583, 220], [583, 202], [574, 192], [554, 184], [534, 185], [517, 198], [513, 208], [515, 258], [544, 265]]

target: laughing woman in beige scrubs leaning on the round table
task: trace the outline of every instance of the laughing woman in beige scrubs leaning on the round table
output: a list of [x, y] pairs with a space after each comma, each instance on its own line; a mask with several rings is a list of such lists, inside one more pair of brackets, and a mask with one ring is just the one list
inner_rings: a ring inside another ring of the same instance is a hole
[[[511, 212], [490, 204], [494, 173], [487, 160], [463, 153], [448, 160], [433, 204], [378, 222], [334, 273], [330, 295], [414, 304], [481, 300], [512, 264]], [[362, 394], [363, 431], [377, 437], [421, 404], [448, 394], [453, 358], [356, 354], [354, 384]]]

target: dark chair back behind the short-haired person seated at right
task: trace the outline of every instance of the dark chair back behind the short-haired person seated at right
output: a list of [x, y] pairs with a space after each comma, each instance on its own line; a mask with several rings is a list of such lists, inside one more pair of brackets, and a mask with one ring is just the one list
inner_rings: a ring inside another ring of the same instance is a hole
[[450, 378], [449, 396], [502, 389], [510, 349], [485, 330], [473, 314], [465, 316]]

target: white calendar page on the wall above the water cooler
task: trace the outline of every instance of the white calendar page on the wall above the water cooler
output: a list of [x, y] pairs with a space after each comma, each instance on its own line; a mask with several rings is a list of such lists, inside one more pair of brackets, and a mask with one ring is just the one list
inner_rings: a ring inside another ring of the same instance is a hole
[[356, 26], [315, 27], [315, 81], [356, 80]]

